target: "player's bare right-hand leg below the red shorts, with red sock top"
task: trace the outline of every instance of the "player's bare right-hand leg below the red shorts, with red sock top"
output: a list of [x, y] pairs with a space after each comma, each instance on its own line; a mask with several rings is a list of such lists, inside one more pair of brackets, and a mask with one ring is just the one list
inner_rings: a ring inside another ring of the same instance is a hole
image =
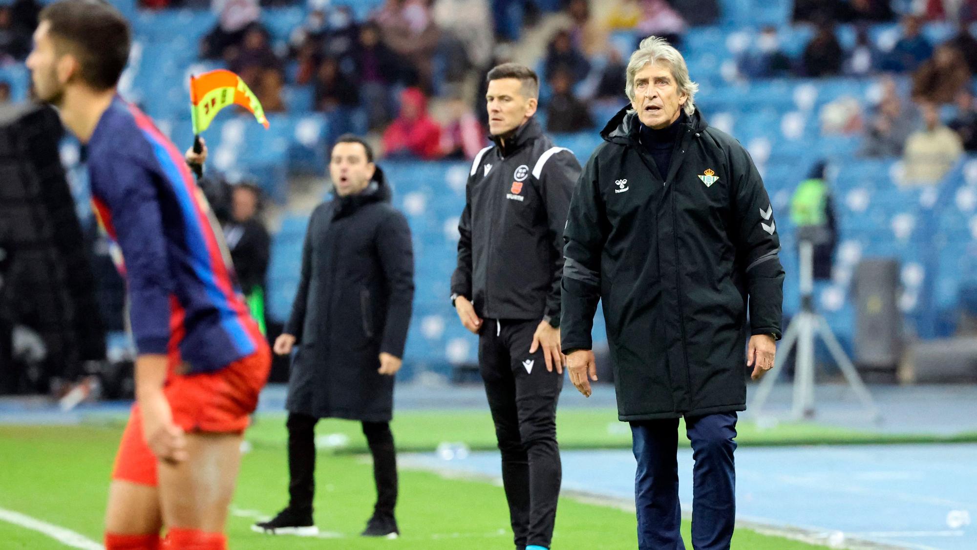
[[187, 435], [190, 458], [158, 463], [159, 496], [168, 527], [165, 548], [223, 550], [224, 527], [240, 466], [239, 434]]

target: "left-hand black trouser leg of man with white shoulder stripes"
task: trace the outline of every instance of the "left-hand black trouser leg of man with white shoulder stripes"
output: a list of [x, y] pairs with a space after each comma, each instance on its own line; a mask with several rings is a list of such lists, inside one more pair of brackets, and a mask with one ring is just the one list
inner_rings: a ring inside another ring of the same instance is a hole
[[[485, 319], [479, 334], [479, 370], [486, 385], [488, 408], [502, 455], [502, 487], [509, 503], [509, 520], [518, 548], [526, 548], [530, 525], [530, 463], [519, 435], [516, 383], [509, 350], [495, 319]], [[529, 348], [527, 348], [529, 349]]]

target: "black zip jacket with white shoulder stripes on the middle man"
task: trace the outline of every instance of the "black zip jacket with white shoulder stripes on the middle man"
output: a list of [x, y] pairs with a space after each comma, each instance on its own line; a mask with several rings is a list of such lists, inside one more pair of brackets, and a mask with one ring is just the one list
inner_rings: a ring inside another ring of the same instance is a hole
[[560, 319], [563, 228], [580, 163], [530, 118], [479, 152], [458, 222], [451, 294], [490, 319]]

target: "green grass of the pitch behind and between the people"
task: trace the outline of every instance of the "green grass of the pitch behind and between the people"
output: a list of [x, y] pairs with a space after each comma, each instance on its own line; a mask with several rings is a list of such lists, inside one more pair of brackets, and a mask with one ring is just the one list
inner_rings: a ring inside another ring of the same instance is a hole
[[[568, 411], [575, 414], [574, 411]], [[571, 415], [573, 417], [573, 414]], [[401, 415], [395, 436], [412, 448], [424, 448], [439, 440], [482, 441], [490, 426], [486, 415], [452, 414], [434, 430], [439, 415]], [[426, 420], [425, 420], [426, 419]], [[563, 420], [563, 419], [561, 419]], [[611, 417], [614, 421], [614, 417]], [[326, 423], [319, 434], [359, 430], [354, 423]], [[442, 429], [447, 424], [450, 430]], [[607, 432], [604, 419], [591, 427]], [[561, 437], [577, 434], [577, 427]], [[118, 427], [0, 427], [0, 507], [78, 531], [100, 540], [106, 504], [106, 486], [121, 431]], [[471, 435], [466, 439], [466, 435]], [[476, 437], [477, 435], [477, 437]], [[490, 433], [489, 433], [490, 435]], [[599, 439], [606, 441], [609, 434]], [[286, 498], [287, 467], [284, 429], [277, 419], [259, 422], [253, 434], [255, 448], [245, 455], [234, 506], [240, 510], [274, 514]], [[360, 444], [362, 436], [353, 441]], [[616, 439], [615, 439], [616, 440]], [[618, 441], [619, 442], [619, 441]], [[398, 520], [404, 533], [395, 541], [361, 539], [372, 507], [374, 492], [370, 465], [349, 454], [319, 455], [316, 521], [320, 528], [336, 532], [337, 539], [270, 538], [249, 530], [252, 520], [233, 517], [228, 532], [231, 547], [262, 550], [466, 550], [511, 549], [508, 512], [501, 487], [482, 481], [446, 480], [427, 472], [401, 474]], [[560, 501], [553, 546], [557, 550], [633, 550], [637, 546], [635, 520], [616, 508], [584, 504], [571, 498]], [[689, 525], [683, 525], [686, 539]], [[689, 546], [691, 547], [691, 546]], [[0, 548], [64, 548], [30, 530], [0, 522]], [[733, 548], [750, 550], [801, 550], [824, 548], [738, 529]]]

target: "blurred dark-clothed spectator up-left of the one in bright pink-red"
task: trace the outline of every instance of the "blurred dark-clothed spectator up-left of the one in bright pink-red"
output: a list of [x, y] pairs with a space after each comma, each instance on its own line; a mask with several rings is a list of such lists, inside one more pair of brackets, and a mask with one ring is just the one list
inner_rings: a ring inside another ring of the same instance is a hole
[[369, 129], [375, 130], [393, 117], [390, 86], [400, 79], [401, 63], [397, 54], [380, 41], [380, 27], [376, 23], [365, 23], [360, 27], [355, 55], [367, 123]]

